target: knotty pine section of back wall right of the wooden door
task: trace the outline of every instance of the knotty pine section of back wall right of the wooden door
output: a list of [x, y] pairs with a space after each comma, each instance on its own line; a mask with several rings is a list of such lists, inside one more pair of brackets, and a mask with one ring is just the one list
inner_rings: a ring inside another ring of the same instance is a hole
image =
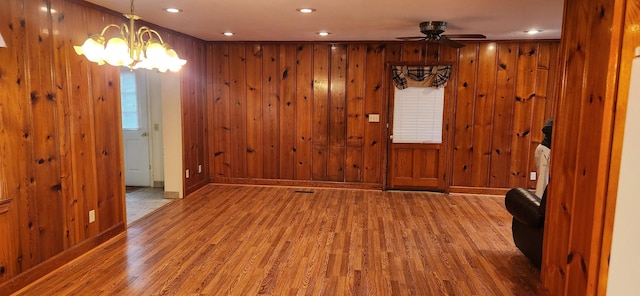
[[535, 187], [529, 173], [551, 117], [557, 53], [556, 42], [460, 49], [452, 186]]

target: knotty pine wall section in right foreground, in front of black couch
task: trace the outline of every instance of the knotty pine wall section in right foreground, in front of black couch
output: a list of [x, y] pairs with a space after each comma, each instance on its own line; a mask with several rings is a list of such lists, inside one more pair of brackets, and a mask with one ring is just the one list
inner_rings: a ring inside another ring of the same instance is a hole
[[639, 16], [637, 1], [565, 1], [540, 295], [606, 294]]

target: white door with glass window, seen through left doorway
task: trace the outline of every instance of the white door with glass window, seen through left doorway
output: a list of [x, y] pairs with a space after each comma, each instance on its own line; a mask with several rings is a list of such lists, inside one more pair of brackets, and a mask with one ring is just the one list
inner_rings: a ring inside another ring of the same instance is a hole
[[125, 184], [151, 186], [145, 71], [120, 71]]

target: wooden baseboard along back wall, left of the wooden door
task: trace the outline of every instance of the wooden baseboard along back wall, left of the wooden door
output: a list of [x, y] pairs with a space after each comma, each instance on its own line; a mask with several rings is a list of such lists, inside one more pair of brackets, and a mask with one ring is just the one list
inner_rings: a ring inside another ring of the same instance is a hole
[[244, 185], [298, 186], [298, 187], [331, 187], [331, 188], [346, 188], [346, 189], [375, 189], [375, 190], [382, 190], [382, 184], [331, 182], [331, 181], [214, 178], [214, 179], [211, 180], [211, 183], [244, 184]]

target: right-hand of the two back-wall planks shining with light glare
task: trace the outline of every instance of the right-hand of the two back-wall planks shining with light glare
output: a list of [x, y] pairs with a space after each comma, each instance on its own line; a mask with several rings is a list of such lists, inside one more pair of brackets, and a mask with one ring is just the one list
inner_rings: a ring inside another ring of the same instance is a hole
[[327, 175], [331, 181], [344, 182], [346, 162], [346, 80], [347, 45], [330, 47], [329, 74], [329, 159]]

